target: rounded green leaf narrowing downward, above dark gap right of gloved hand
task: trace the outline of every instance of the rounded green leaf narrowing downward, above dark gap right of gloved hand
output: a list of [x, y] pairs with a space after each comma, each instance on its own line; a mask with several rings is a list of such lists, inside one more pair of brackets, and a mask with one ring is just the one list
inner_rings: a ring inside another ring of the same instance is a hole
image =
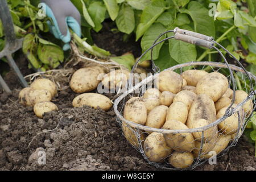
[[106, 14], [106, 7], [102, 4], [102, 2], [93, 2], [90, 4], [88, 8], [90, 17], [92, 18], [95, 27], [93, 27], [93, 30], [96, 32], [100, 31], [102, 28], [102, 22], [105, 19]]

